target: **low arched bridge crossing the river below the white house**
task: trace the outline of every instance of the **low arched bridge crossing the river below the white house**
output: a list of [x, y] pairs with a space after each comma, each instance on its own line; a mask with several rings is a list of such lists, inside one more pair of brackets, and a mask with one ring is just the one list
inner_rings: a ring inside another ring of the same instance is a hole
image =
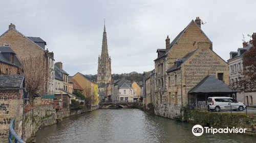
[[100, 103], [99, 108], [100, 109], [106, 109], [106, 108], [137, 108], [139, 105], [138, 102], [120, 102], [120, 103]]

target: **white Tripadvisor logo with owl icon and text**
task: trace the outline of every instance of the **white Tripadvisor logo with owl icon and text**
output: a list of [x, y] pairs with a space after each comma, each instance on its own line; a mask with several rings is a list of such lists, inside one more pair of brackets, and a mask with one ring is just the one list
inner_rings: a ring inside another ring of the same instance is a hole
[[202, 127], [201, 125], [195, 125], [192, 128], [192, 133], [195, 136], [201, 136], [204, 132], [215, 134], [215, 133], [245, 133], [246, 128], [212, 128], [212, 127]]

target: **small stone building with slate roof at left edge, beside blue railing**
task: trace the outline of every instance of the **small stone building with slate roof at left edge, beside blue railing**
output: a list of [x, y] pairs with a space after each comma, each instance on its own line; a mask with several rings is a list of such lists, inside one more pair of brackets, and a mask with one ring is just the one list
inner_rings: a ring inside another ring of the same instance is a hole
[[15, 132], [22, 136], [25, 77], [0, 75], [0, 142], [8, 142], [9, 126], [15, 117]]

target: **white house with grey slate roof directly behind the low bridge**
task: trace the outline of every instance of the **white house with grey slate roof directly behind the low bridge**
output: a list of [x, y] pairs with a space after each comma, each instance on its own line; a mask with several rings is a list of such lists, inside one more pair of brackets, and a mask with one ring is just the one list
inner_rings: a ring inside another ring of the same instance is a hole
[[122, 78], [111, 84], [112, 102], [133, 102], [132, 82]]

